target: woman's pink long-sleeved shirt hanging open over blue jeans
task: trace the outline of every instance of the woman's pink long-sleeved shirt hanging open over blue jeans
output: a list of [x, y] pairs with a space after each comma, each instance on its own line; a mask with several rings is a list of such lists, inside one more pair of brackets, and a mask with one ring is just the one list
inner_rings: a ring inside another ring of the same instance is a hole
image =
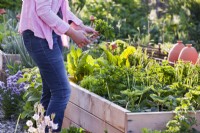
[[[60, 8], [63, 19], [57, 16]], [[76, 25], [82, 24], [70, 11], [68, 0], [23, 0], [19, 32], [28, 29], [33, 31], [35, 36], [46, 39], [49, 48], [53, 49], [52, 31], [61, 35], [63, 40], [66, 39], [64, 33], [70, 27], [69, 20]]]

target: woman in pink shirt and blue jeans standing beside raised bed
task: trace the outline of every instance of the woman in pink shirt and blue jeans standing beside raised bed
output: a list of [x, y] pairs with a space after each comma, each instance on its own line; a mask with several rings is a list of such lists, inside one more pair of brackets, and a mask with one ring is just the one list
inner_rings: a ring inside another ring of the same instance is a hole
[[90, 43], [86, 34], [98, 33], [70, 11], [68, 0], [23, 0], [19, 32], [40, 70], [43, 82], [41, 103], [46, 115], [56, 114], [54, 123], [58, 123], [58, 129], [54, 132], [59, 132], [70, 97], [62, 40], [69, 36], [82, 47]]

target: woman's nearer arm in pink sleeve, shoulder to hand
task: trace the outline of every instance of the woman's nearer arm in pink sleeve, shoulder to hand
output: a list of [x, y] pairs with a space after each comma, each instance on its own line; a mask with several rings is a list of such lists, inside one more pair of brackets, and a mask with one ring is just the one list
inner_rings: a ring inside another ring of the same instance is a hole
[[[57, 34], [68, 35], [79, 47], [87, 45], [90, 41], [82, 31], [76, 31], [64, 22], [51, 10], [52, 0], [35, 0], [37, 15]], [[59, 32], [59, 33], [58, 33]]]

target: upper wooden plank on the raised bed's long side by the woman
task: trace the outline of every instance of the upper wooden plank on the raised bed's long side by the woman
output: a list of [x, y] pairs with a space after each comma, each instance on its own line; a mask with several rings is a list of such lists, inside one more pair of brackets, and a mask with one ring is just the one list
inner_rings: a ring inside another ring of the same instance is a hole
[[85, 111], [109, 123], [120, 131], [125, 131], [126, 113], [130, 112], [80, 86], [70, 83], [70, 101]]

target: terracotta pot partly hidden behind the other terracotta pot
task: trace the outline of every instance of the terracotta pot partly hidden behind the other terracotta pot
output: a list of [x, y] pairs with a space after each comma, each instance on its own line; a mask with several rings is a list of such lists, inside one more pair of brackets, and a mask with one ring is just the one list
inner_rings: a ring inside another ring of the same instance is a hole
[[179, 54], [181, 50], [184, 48], [184, 44], [182, 41], [177, 41], [177, 43], [172, 47], [168, 55], [168, 61], [176, 62], [178, 61]]

